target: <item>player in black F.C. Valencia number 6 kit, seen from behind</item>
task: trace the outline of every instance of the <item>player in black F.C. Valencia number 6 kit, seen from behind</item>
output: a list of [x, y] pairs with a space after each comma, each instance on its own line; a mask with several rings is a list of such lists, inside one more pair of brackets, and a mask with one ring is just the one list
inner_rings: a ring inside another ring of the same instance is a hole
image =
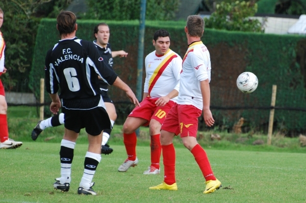
[[[61, 40], [48, 50], [45, 59], [45, 85], [52, 98], [50, 111], [57, 114], [61, 101], [65, 119], [65, 133], [61, 141], [61, 177], [54, 188], [68, 191], [71, 182], [71, 164], [75, 141], [85, 128], [89, 147], [85, 155], [84, 173], [78, 194], [92, 194], [92, 179], [101, 160], [101, 142], [104, 129], [111, 128], [99, 88], [98, 76], [108, 84], [125, 91], [127, 97], [139, 105], [133, 91], [103, 60], [92, 42], [75, 37], [77, 17], [72, 12], [61, 11], [57, 17], [57, 29]], [[61, 89], [60, 96], [57, 94]]]

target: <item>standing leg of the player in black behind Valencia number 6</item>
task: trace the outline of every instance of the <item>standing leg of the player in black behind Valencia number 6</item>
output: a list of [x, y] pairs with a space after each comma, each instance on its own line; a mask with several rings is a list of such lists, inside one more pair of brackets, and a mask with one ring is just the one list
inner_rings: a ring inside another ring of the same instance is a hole
[[[112, 127], [114, 126], [114, 123], [117, 119], [117, 113], [115, 105], [111, 102], [105, 102], [106, 111], [109, 115], [109, 118], [111, 120]], [[101, 154], [111, 154], [113, 152], [113, 149], [110, 148], [109, 144], [107, 143], [110, 135], [111, 135], [112, 129], [105, 129], [103, 132], [103, 138], [102, 138], [102, 146], [101, 146]]]

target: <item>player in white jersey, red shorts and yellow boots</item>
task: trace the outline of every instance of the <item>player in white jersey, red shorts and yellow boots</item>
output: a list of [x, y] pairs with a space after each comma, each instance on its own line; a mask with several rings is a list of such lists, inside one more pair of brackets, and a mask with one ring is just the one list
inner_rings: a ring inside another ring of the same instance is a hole
[[188, 16], [185, 27], [189, 48], [183, 59], [183, 72], [177, 104], [169, 111], [161, 130], [164, 163], [164, 182], [150, 189], [177, 190], [175, 181], [175, 150], [173, 137], [181, 134], [184, 146], [193, 154], [206, 180], [203, 193], [211, 193], [221, 187], [212, 171], [206, 152], [197, 143], [198, 117], [203, 110], [206, 125], [214, 125], [210, 111], [210, 54], [201, 42], [204, 21], [200, 16]]

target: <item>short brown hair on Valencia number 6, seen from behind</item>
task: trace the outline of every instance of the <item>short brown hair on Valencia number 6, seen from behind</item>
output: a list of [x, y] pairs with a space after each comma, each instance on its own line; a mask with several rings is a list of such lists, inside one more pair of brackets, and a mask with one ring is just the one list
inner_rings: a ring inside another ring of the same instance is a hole
[[70, 11], [61, 11], [56, 18], [58, 24], [58, 30], [60, 35], [64, 37], [73, 33], [75, 30], [75, 22], [77, 22], [77, 16]]

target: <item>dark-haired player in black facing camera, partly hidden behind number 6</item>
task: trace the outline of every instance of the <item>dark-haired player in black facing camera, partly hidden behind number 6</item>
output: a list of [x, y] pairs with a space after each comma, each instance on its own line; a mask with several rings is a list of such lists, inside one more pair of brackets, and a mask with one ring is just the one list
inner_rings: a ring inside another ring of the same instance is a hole
[[[103, 57], [103, 60], [108, 63], [111, 67], [113, 66], [113, 57], [120, 56], [120, 57], [126, 57], [127, 53], [123, 50], [120, 51], [112, 51], [111, 45], [109, 42], [110, 38], [110, 28], [106, 23], [99, 23], [94, 27], [94, 37], [96, 38], [93, 43], [96, 45], [98, 51], [100, 52], [101, 56]], [[104, 80], [100, 79], [100, 90], [101, 90], [101, 96], [103, 98], [103, 101], [105, 102], [106, 111], [109, 114], [111, 124], [114, 125], [117, 114], [116, 109], [113, 104], [113, 101], [110, 99], [108, 95], [108, 86], [109, 84], [106, 83]], [[32, 139], [36, 140], [38, 135], [48, 127], [56, 127], [64, 124], [64, 113], [59, 113], [58, 115], [55, 115], [54, 117], [48, 118], [43, 121], [39, 121], [35, 128], [32, 131]], [[111, 129], [105, 129], [103, 132], [103, 140], [102, 140], [102, 146], [101, 146], [101, 154], [111, 154], [113, 152], [113, 149], [110, 148], [108, 145], [108, 139], [111, 134]]]

